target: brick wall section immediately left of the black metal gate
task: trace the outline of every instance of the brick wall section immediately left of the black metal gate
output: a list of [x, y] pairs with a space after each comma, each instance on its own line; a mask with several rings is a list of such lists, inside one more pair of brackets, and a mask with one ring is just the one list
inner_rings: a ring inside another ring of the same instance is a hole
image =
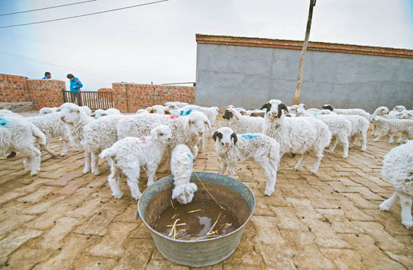
[[42, 107], [59, 107], [63, 104], [62, 91], [66, 90], [64, 81], [28, 79], [27, 83], [30, 101], [36, 110]]

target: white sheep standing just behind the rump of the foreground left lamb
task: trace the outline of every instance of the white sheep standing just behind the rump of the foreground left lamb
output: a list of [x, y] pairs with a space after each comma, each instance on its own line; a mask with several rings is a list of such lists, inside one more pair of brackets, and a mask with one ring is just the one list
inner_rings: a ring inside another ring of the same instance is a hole
[[92, 174], [96, 176], [100, 174], [98, 154], [118, 141], [116, 125], [126, 117], [122, 114], [100, 117], [83, 127], [83, 139], [81, 141], [81, 145], [85, 149], [83, 174], [87, 174], [91, 170]]

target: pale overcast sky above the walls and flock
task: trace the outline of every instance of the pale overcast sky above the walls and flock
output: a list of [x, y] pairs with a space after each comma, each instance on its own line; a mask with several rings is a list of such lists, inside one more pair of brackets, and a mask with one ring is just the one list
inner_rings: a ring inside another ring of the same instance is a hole
[[[85, 0], [0, 0], [0, 14]], [[123, 8], [154, 0], [96, 0], [0, 16], [0, 26]], [[88, 17], [0, 28], [0, 73], [112, 83], [195, 81], [195, 34], [303, 40], [309, 0], [169, 0]], [[310, 41], [413, 50], [413, 0], [318, 0]], [[298, 63], [297, 63], [298, 69]], [[67, 84], [68, 88], [68, 84]], [[1, 90], [0, 90], [1, 91]]]

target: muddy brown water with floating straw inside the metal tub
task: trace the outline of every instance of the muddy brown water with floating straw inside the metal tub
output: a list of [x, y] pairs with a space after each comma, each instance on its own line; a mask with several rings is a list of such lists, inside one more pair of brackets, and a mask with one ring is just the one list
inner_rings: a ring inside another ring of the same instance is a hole
[[[173, 203], [173, 206], [175, 208], [171, 205], [166, 209], [153, 226], [153, 229], [171, 238], [180, 240], [214, 238], [231, 233], [240, 227], [229, 210], [223, 210], [218, 204], [209, 200], [193, 200], [187, 205]], [[173, 226], [174, 224], [176, 225]]]

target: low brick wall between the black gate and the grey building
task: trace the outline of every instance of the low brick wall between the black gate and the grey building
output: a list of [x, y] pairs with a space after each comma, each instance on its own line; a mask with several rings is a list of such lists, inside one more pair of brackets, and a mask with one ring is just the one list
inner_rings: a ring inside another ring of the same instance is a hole
[[195, 101], [195, 89], [192, 86], [112, 83], [112, 89], [103, 88], [99, 91], [113, 92], [114, 107], [121, 112], [136, 112], [138, 109], [167, 101]]

